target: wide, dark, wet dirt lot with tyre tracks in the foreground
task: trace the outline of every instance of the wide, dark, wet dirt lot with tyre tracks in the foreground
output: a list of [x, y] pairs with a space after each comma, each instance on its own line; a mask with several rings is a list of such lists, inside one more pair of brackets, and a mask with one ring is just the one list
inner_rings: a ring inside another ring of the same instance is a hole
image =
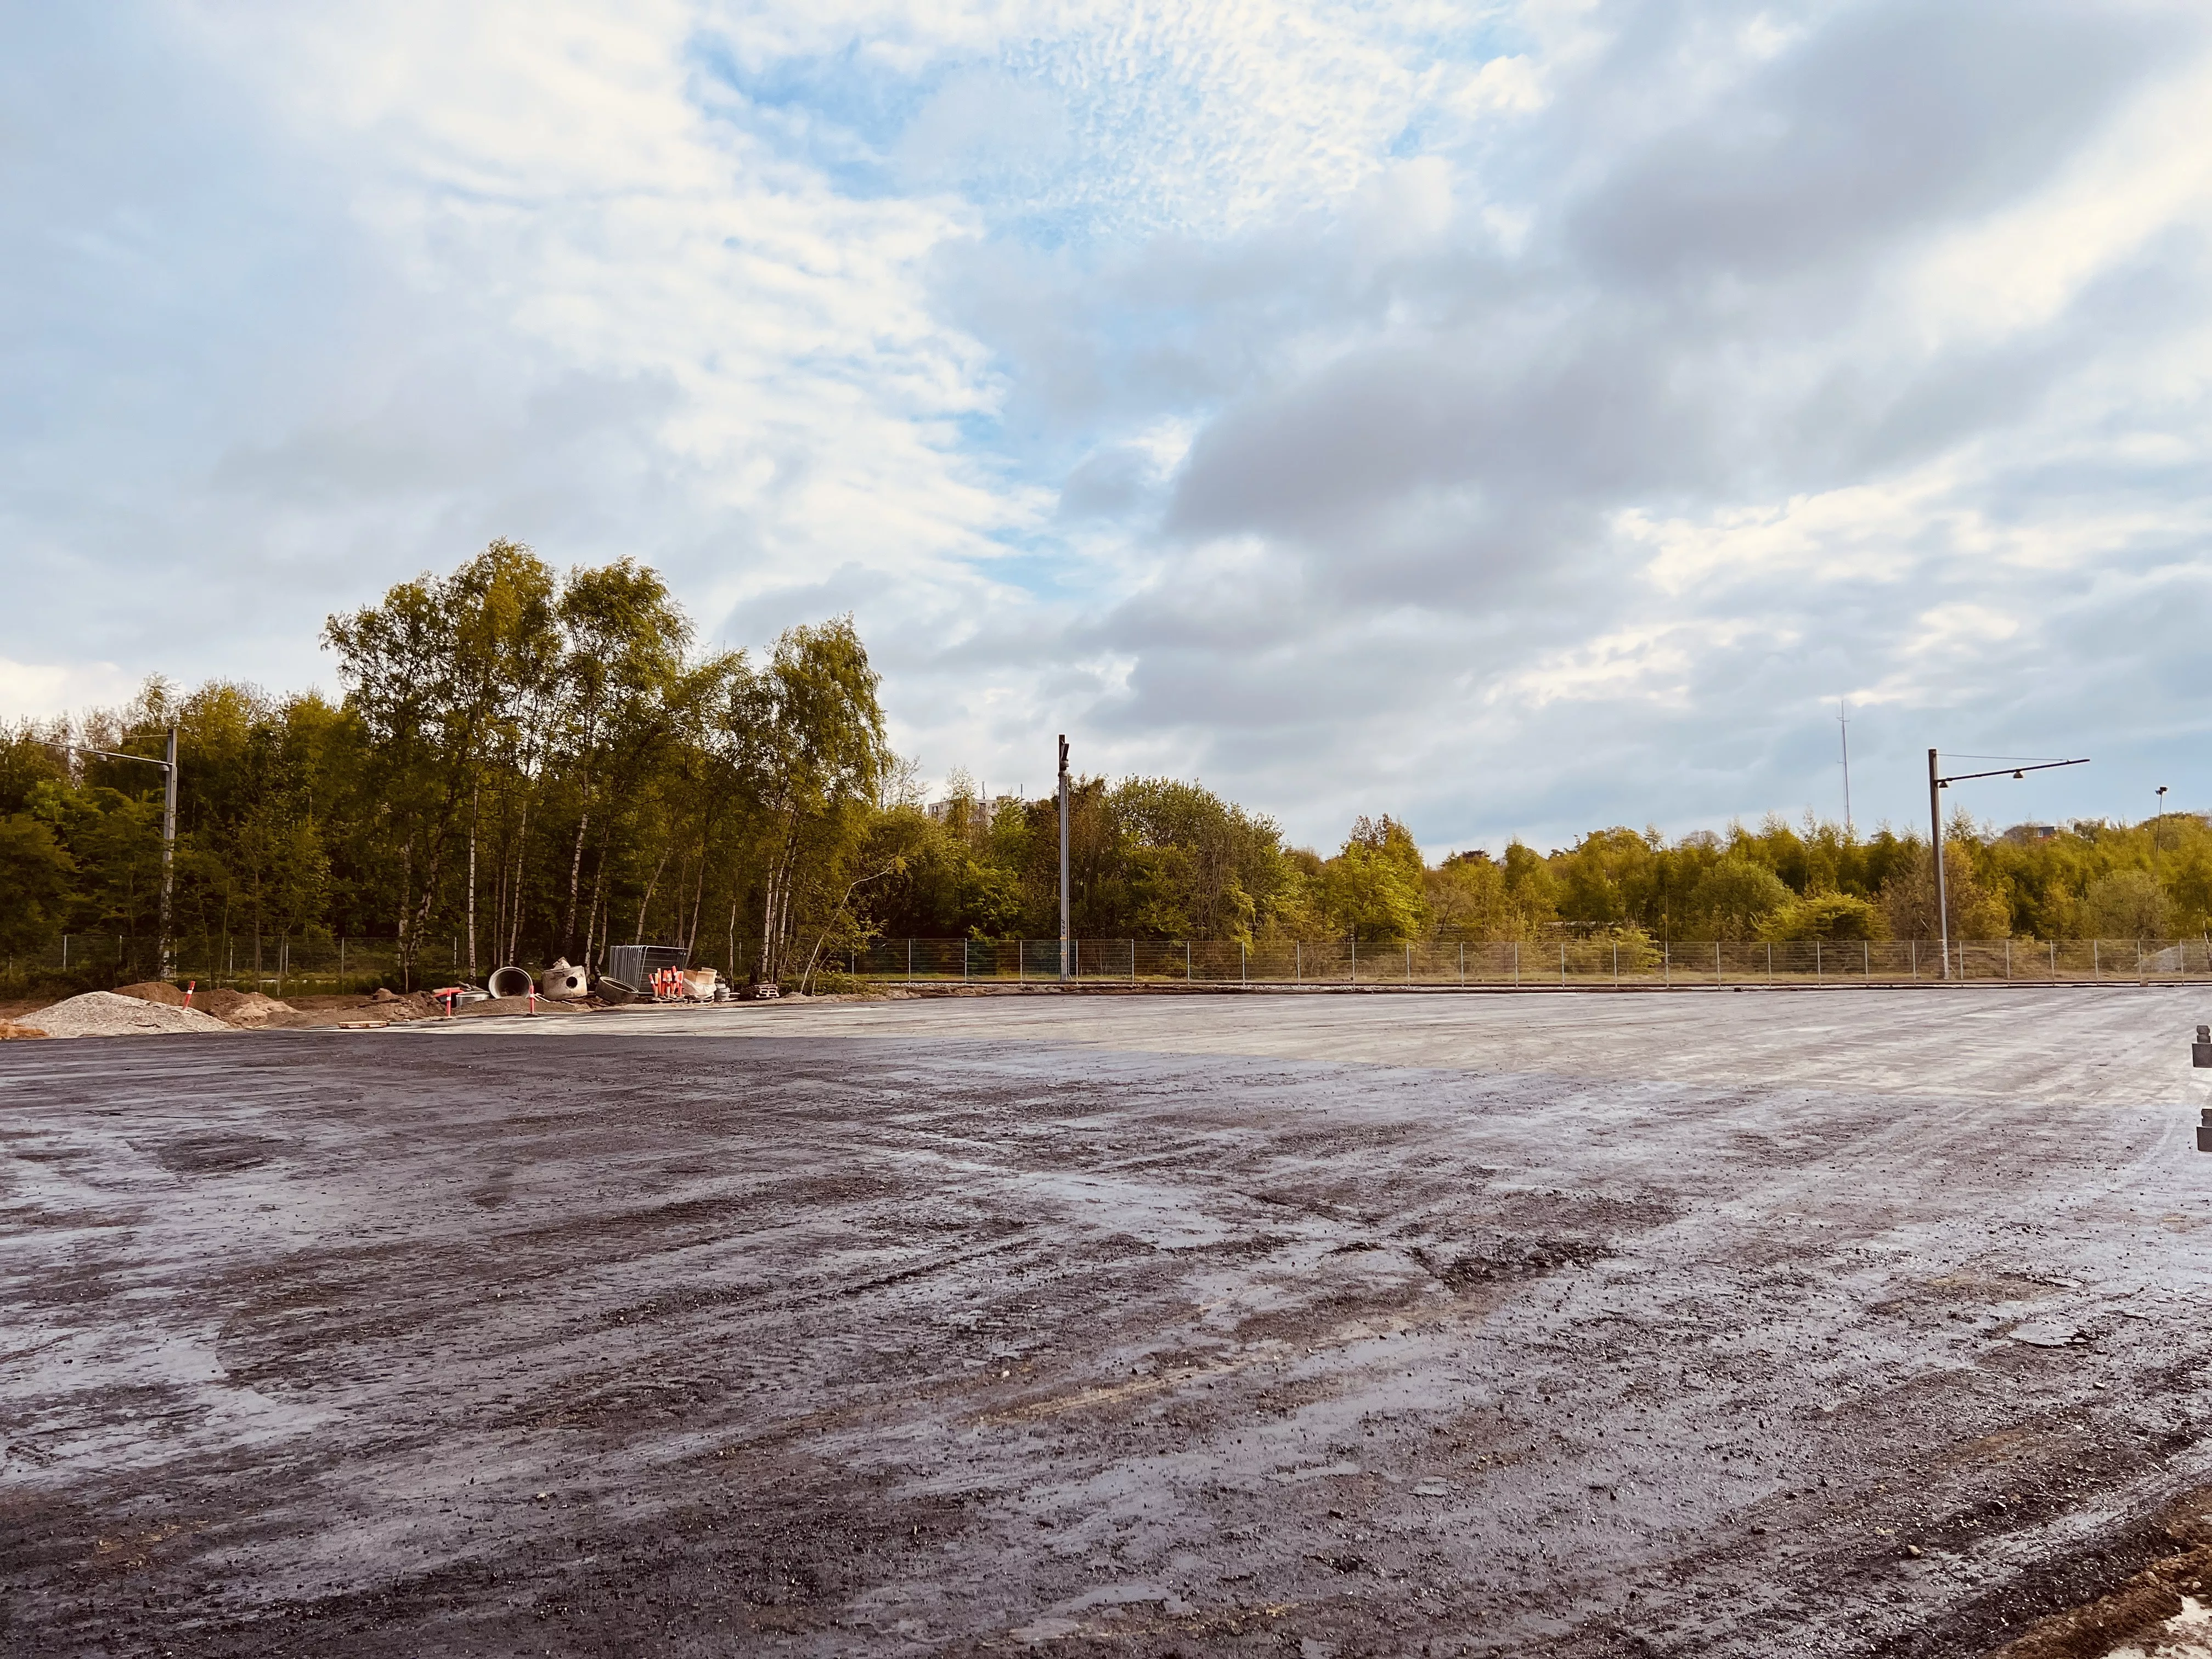
[[2212, 1478], [2201, 1002], [11, 1046], [0, 1648], [1982, 1655]]

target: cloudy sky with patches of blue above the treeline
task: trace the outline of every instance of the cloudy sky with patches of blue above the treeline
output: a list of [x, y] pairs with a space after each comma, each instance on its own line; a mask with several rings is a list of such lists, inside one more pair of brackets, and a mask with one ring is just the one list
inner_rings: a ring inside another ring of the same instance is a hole
[[0, 0], [0, 714], [511, 535], [1325, 849], [2212, 807], [2208, 18]]

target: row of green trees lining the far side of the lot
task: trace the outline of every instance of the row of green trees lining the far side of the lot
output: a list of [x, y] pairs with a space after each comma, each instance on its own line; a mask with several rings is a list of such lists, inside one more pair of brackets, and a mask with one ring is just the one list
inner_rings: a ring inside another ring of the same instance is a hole
[[[427, 942], [460, 967], [617, 942], [684, 945], [803, 978], [872, 938], [1057, 933], [1055, 801], [984, 801], [956, 772], [925, 805], [885, 741], [849, 619], [765, 655], [695, 650], [633, 562], [551, 571], [495, 542], [323, 633], [341, 701], [153, 679], [122, 710], [0, 739], [0, 949], [157, 931], [161, 792], [179, 728], [173, 931], [248, 942]], [[2212, 927], [2197, 816], [1947, 838], [1953, 938], [2172, 938]], [[1559, 929], [1670, 940], [1933, 938], [1927, 843], [1834, 823], [1597, 830], [1573, 847], [1429, 865], [1360, 818], [1321, 856], [1172, 779], [1082, 779], [1071, 911], [1084, 938], [1511, 940]], [[465, 945], [460, 945], [465, 940]]]

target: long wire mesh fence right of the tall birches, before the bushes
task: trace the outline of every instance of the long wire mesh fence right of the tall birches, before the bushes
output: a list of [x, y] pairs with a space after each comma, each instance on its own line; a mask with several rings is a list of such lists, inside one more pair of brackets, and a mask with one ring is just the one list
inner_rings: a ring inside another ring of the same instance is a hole
[[[1075, 940], [1082, 984], [1916, 984], [1931, 980], [2212, 980], [2208, 940], [1506, 940], [1489, 945], [1223, 945]], [[860, 980], [942, 984], [1060, 980], [1060, 940], [878, 940], [836, 964]], [[1944, 971], [1949, 967], [1949, 973]]]

